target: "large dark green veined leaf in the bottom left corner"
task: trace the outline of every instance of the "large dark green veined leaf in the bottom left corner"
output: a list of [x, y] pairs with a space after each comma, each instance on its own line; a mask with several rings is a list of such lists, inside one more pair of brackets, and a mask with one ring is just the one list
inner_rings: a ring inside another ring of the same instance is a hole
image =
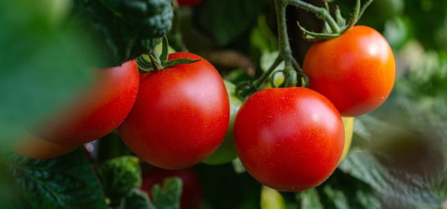
[[108, 208], [84, 150], [52, 160], [12, 154], [10, 171], [27, 208]]

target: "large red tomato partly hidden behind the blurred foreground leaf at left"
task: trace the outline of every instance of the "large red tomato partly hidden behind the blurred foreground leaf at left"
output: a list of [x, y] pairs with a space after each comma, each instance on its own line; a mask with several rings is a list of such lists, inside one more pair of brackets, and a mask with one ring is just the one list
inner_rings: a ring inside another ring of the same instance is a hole
[[99, 139], [124, 121], [135, 102], [139, 72], [135, 61], [95, 69], [96, 78], [71, 106], [37, 128], [37, 134], [57, 144], [80, 145]]

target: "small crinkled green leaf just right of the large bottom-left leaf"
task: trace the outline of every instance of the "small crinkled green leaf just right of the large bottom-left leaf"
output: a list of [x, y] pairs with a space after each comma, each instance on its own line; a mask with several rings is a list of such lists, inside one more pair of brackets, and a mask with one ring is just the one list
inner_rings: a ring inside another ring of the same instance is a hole
[[134, 156], [115, 157], [98, 167], [105, 196], [119, 202], [134, 188], [141, 187], [140, 160]]

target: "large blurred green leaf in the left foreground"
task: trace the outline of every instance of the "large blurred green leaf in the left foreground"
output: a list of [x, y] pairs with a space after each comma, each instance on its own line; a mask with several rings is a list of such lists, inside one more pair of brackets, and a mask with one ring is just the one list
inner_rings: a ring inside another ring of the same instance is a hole
[[[98, 56], [38, 1], [0, 2], [0, 144], [41, 122], [91, 83]], [[3, 146], [1, 146], [3, 147]]]

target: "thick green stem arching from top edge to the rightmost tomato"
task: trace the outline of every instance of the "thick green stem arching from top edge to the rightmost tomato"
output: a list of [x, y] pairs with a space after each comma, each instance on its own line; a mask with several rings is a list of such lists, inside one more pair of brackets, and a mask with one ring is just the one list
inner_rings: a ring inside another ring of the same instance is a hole
[[329, 11], [326, 10], [325, 8], [320, 8], [320, 7], [314, 6], [310, 3], [306, 3], [306, 2], [300, 1], [300, 0], [281, 0], [281, 1], [283, 3], [290, 4], [293, 6], [298, 6], [299, 8], [302, 8], [309, 12], [315, 13], [318, 18], [320, 18], [321, 20], [325, 20], [325, 22], [327, 22], [329, 24], [330, 29], [332, 29], [333, 32], [338, 33], [339, 31], [341, 31], [337, 22], [329, 14]]

